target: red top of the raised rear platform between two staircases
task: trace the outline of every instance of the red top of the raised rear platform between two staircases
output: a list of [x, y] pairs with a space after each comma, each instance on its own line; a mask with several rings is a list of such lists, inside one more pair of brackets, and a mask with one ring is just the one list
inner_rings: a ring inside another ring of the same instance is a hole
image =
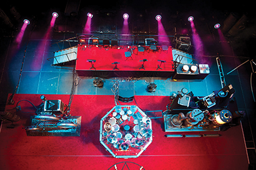
[[[160, 47], [155, 52], [147, 49], [144, 52], [138, 52], [136, 46], [130, 46], [134, 49], [132, 58], [126, 58], [125, 52], [127, 46], [122, 46], [121, 49], [113, 48], [103, 48], [101, 46], [96, 47], [95, 45], [79, 45], [77, 49], [77, 61], [76, 61], [76, 70], [90, 70], [91, 63], [87, 62], [88, 59], [96, 60], [94, 62], [94, 67], [96, 70], [101, 71], [112, 71], [115, 67], [114, 62], [119, 62], [117, 68], [120, 71], [156, 71], [156, 72], [174, 72], [174, 63], [172, 58], [172, 47], [169, 47], [169, 50], [162, 51]], [[145, 62], [144, 69], [142, 67], [143, 62], [140, 62], [143, 59], [147, 59]], [[162, 63], [161, 68], [157, 70], [157, 65], [160, 65], [161, 62], [157, 60], [165, 60]], [[91, 70], [94, 70], [93, 68]], [[115, 70], [115, 71], [119, 71]]]

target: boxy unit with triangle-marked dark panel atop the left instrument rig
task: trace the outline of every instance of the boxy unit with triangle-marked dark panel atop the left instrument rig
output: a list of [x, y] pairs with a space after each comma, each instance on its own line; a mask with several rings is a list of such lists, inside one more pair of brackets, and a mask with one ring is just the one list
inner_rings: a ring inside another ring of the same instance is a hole
[[64, 103], [61, 100], [46, 100], [44, 111], [62, 114], [64, 113]]

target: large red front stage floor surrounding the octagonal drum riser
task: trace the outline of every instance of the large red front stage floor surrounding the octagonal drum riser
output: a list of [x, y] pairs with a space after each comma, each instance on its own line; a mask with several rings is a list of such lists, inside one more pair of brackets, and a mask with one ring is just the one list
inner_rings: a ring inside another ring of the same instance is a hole
[[[69, 95], [46, 95], [46, 98], [67, 104]], [[135, 96], [135, 99], [144, 111], [165, 110], [169, 103], [169, 97]], [[6, 111], [15, 111], [19, 100], [29, 100], [36, 106], [42, 102], [40, 95], [16, 94], [14, 105], [6, 105]], [[164, 132], [163, 118], [155, 118], [152, 143], [144, 153], [136, 159], [117, 159], [99, 142], [100, 120], [114, 106], [114, 95], [74, 96], [71, 114], [82, 116], [81, 135], [75, 137], [27, 136], [23, 128], [29, 125], [35, 109], [25, 101], [19, 105], [24, 112], [17, 112], [21, 120], [14, 129], [6, 128], [8, 123], [2, 125], [1, 169], [109, 169], [122, 161], [137, 163], [147, 170], [248, 168], [241, 126], [214, 132], [221, 135], [215, 138], [166, 138], [170, 133]]]

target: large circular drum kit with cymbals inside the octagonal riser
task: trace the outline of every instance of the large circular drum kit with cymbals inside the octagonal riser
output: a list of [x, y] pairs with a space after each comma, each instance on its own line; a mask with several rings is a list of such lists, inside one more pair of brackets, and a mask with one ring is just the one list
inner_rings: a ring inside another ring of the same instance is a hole
[[[112, 115], [105, 118], [104, 131], [102, 136], [107, 141], [107, 144], [112, 144], [114, 148], [127, 151], [131, 148], [140, 148], [147, 143], [152, 136], [152, 130], [149, 128], [150, 119], [147, 116], [142, 118], [144, 123], [143, 128], [139, 128], [138, 120], [130, 120], [137, 108], [121, 108], [116, 106]], [[122, 125], [123, 124], [123, 125]]]

